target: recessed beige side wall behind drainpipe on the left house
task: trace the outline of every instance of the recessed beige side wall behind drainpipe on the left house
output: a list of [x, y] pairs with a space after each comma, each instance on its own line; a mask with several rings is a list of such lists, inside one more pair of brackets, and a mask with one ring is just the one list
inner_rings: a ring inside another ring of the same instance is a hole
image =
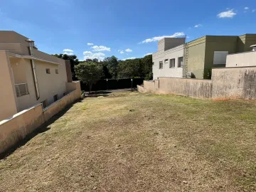
[[[33, 73], [31, 69], [31, 61], [28, 59], [11, 58], [11, 67], [14, 73], [16, 83], [28, 83], [29, 95], [17, 97], [18, 112], [36, 105], [43, 100], [48, 100], [48, 104], [53, 103], [53, 95], [58, 95], [58, 98], [63, 97], [66, 92], [67, 73], [65, 60], [60, 60], [60, 65], [46, 63], [39, 60], [34, 60], [36, 64], [36, 74], [38, 78], [38, 87], [40, 92], [39, 100], [36, 100], [36, 90], [33, 82]], [[50, 69], [50, 74], [46, 73], [46, 68]], [[58, 69], [58, 74], [55, 73]]]

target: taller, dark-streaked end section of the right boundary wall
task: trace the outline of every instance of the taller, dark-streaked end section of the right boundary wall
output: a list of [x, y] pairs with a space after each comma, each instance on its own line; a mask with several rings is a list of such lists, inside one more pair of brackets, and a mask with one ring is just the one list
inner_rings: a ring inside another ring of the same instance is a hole
[[213, 69], [213, 99], [256, 99], [256, 67]]

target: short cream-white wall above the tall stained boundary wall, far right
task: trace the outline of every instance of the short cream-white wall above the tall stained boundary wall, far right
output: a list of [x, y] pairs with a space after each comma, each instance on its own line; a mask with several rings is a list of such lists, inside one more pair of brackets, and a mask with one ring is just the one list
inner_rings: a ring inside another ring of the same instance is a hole
[[256, 66], [256, 51], [227, 56], [226, 68]]

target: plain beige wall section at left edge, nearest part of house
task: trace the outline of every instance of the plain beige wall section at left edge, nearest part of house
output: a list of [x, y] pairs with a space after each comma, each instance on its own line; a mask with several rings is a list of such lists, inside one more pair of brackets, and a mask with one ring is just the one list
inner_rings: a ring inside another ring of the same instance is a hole
[[0, 50], [0, 120], [16, 114], [16, 91], [8, 53]]

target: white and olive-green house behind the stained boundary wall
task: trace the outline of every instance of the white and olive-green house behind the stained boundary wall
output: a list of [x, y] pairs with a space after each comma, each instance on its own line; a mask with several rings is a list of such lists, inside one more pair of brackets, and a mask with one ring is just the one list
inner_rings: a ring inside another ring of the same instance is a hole
[[185, 38], [177, 38], [179, 45], [174, 39], [160, 40], [158, 51], [153, 53], [154, 80], [159, 77], [208, 78], [212, 68], [225, 67], [228, 54], [249, 51], [250, 46], [256, 44], [256, 34], [203, 36], [185, 44], [181, 42]]

